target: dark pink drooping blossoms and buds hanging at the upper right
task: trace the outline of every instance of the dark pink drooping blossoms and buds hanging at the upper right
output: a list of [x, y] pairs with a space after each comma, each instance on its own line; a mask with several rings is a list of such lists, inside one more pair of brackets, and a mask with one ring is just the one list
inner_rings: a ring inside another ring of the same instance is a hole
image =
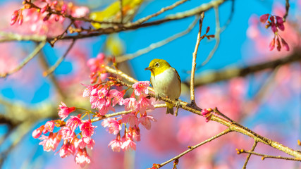
[[[276, 22], [275, 22], [276, 21]], [[275, 45], [277, 46], [277, 50], [281, 51], [281, 47], [283, 47], [286, 51], [290, 50], [290, 47], [288, 46], [288, 43], [285, 42], [285, 40], [281, 37], [278, 30], [284, 31], [285, 27], [283, 25], [284, 21], [283, 18], [281, 18], [278, 15], [270, 15], [270, 14], [264, 14], [260, 16], [260, 22], [266, 23], [266, 28], [271, 27], [271, 30], [274, 32], [274, 38], [271, 40], [269, 44], [270, 51], [275, 48]], [[281, 46], [282, 44], [282, 46]]]

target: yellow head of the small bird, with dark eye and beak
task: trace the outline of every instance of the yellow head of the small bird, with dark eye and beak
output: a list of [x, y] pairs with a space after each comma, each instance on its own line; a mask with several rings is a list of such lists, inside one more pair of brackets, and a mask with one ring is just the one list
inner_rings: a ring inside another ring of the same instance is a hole
[[155, 76], [163, 73], [168, 68], [171, 68], [171, 65], [169, 65], [167, 61], [155, 58], [149, 63], [149, 67], [145, 68], [145, 70], [150, 70], [152, 76]]

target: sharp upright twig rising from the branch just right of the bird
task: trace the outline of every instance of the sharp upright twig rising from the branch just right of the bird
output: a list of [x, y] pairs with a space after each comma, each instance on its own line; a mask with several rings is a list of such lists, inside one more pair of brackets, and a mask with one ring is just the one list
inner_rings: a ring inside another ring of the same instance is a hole
[[201, 13], [199, 18], [199, 32], [197, 33], [197, 43], [195, 44], [195, 51], [192, 54], [192, 66], [190, 77], [190, 100], [195, 101], [195, 66], [197, 65], [197, 49], [199, 49], [199, 42], [201, 42], [202, 24], [204, 19], [204, 12]]

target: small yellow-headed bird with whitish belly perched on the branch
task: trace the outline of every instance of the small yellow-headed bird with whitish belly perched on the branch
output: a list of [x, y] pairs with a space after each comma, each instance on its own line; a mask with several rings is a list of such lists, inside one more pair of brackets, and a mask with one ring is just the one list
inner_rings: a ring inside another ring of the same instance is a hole
[[[175, 68], [163, 59], [155, 58], [145, 70], [151, 71], [150, 82], [154, 87], [156, 97], [163, 96], [169, 99], [178, 99], [181, 91], [180, 76]], [[173, 115], [173, 104], [166, 102], [166, 114]]]

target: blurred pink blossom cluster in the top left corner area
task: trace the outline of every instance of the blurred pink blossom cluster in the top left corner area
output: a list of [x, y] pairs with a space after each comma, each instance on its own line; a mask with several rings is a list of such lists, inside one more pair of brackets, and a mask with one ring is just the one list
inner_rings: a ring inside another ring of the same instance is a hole
[[[39, 0], [33, 4], [25, 0], [23, 7], [11, 15], [11, 25], [15, 23], [23, 25], [25, 23], [31, 33], [54, 36], [63, 32], [65, 15], [80, 18], [87, 13], [89, 13], [89, 8], [75, 6], [71, 2]], [[81, 22], [75, 21], [74, 24], [79, 27]]]

